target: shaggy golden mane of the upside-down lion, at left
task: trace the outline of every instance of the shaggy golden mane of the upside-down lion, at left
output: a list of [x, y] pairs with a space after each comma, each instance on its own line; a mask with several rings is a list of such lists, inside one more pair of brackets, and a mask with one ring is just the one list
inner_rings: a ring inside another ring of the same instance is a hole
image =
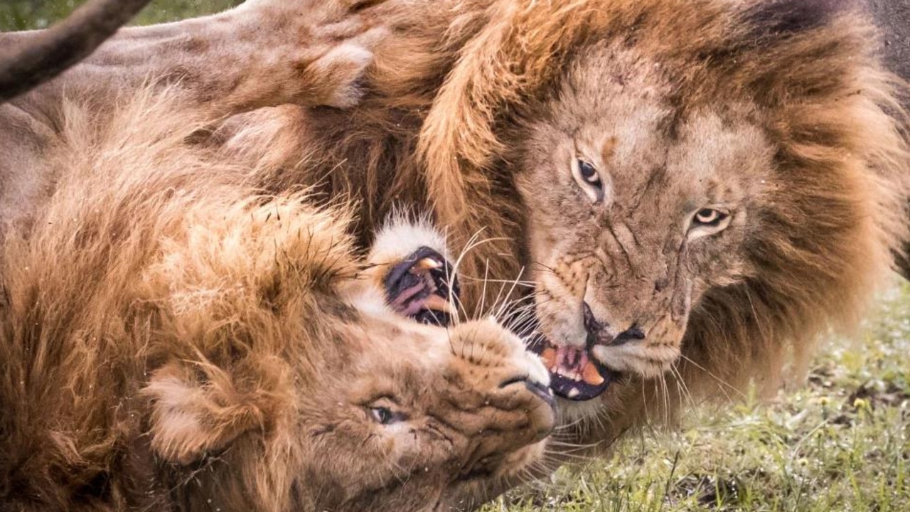
[[[182, 438], [200, 445], [150, 445], [162, 442], [147, 434], [141, 388], [151, 372], [175, 356], [198, 362], [220, 405], [213, 415], [233, 417], [236, 432], [287, 428], [293, 377], [269, 353], [303, 335], [309, 343], [283, 353], [287, 361], [310, 361], [318, 374], [320, 358], [337, 356], [330, 287], [359, 267], [341, 210], [313, 209], [300, 195], [257, 198], [238, 187], [248, 168], [176, 150], [203, 125], [167, 94], [132, 101], [111, 123], [66, 109], [49, 162], [66, 169], [58, 191], [0, 254], [0, 496], [35, 510], [157, 509], [173, 498], [171, 478], [186, 476], [178, 466], [162, 470], [153, 454], [191, 458], [213, 446], [192, 435]], [[262, 221], [282, 215], [283, 223]], [[280, 313], [292, 297], [305, 297], [302, 311], [326, 323]], [[242, 343], [231, 339], [257, 343], [241, 356], [231, 351]], [[269, 378], [244, 388], [245, 372]], [[287, 493], [282, 470], [295, 455], [266, 448], [261, 456], [272, 475], [259, 475], [259, 456], [241, 456], [232, 464], [249, 480], [222, 482], [221, 492], [278, 507]]]

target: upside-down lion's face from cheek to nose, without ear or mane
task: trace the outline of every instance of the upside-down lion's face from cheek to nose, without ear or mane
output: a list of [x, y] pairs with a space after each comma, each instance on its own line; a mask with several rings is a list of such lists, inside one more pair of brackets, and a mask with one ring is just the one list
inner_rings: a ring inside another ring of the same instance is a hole
[[302, 420], [317, 509], [431, 510], [447, 487], [540, 459], [555, 421], [548, 376], [517, 337], [492, 320], [362, 320]]

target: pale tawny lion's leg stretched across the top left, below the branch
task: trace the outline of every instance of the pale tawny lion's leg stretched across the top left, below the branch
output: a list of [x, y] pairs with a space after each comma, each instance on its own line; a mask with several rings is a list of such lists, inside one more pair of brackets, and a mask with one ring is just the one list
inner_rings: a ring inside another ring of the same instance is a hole
[[[86, 104], [98, 123], [117, 97], [149, 83], [209, 118], [281, 104], [349, 107], [386, 31], [370, 21], [372, 4], [252, 0], [220, 15], [128, 28], [83, 63], [0, 104], [0, 239], [53, 186], [44, 154], [66, 125], [66, 98]], [[0, 45], [40, 34], [0, 35]]]

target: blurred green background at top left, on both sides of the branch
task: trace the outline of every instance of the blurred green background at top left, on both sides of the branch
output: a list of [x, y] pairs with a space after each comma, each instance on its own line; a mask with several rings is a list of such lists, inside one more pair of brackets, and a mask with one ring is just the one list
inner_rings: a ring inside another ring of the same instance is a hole
[[[136, 17], [136, 25], [162, 23], [217, 13], [243, 0], [155, 0]], [[0, 31], [45, 28], [66, 17], [85, 0], [0, 0]]]

